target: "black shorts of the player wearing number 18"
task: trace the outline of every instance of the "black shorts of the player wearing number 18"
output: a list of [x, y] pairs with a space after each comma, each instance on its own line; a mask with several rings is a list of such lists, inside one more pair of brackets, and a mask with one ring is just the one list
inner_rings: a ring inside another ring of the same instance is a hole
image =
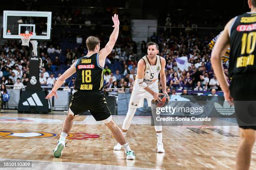
[[95, 120], [105, 120], [111, 116], [108, 109], [105, 95], [100, 91], [82, 91], [74, 92], [69, 111], [74, 113], [74, 116], [90, 110]]

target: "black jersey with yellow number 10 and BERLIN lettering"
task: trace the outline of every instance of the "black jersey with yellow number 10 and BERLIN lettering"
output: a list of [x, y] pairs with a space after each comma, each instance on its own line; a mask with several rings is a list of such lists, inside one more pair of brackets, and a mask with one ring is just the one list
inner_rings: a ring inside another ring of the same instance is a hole
[[256, 73], [256, 13], [244, 13], [234, 19], [230, 29], [228, 73]]

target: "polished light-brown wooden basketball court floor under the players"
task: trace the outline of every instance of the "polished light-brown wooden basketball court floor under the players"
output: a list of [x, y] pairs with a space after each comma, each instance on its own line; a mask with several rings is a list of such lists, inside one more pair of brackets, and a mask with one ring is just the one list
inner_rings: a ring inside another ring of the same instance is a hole
[[[126, 160], [124, 150], [114, 151], [116, 141], [110, 130], [101, 122], [96, 122], [92, 116], [84, 115], [75, 118], [62, 157], [54, 158], [52, 151], [59, 139], [66, 114], [17, 114], [14, 110], [1, 113], [0, 161], [33, 160], [33, 169], [58, 170], [235, 168], [239, 142], [237, 126], [164, 126], [163, 143], [166, 153], [156, 153], [154, 126], [150, 125], [150, 117], [146, 116], [135, 116], [127, 135], [136, 160]], [[120, 127], [124, 118], [113, 116]], [[251, 169], [256, 169], [255, 162], [256, 147], [253, 148]]]

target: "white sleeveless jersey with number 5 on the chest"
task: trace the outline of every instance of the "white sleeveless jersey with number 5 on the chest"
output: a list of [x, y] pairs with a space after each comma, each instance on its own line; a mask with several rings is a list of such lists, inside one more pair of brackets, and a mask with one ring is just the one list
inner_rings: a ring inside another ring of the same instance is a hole
[[160, 56], [156, 55], [156, 65], [151, 65], [148, 61], [148, 58], [146, 55], [142, 57], [142, 59], [146, 63], [146, 68], [144, 71], [144, 77], [143, 81], [146, 82], [148, 87], [150, 88], [156, 88], [158, 87], [158, 77], [159, 77], [159, 72], [161, 70], [161, 61], [160, 61]]

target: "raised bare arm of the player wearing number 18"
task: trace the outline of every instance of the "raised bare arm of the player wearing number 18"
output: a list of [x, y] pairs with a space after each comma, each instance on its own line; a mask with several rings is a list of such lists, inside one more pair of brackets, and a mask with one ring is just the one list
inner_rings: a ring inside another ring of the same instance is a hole
[[102, 48], [102, 50], [100, 50], [100, 52], [99, 52], [99, 58], [104, 60], [104, 61], [105, 61], [106, 57], [112, 51], [112, 49], [115, 45], [115, 42], [118, 39], [118, 33], [119, 33], [118, 15], [115, 14], [112, 17], [112, 20], [113, 20], [113, 23], [114, 23], [114, 25], [113, 25], [114, 30], [113, 30], [112, 34], [110, 35], [110, 37], [109, 37], [109, 41], [108, 41], [107, 45], [104, 48]]

